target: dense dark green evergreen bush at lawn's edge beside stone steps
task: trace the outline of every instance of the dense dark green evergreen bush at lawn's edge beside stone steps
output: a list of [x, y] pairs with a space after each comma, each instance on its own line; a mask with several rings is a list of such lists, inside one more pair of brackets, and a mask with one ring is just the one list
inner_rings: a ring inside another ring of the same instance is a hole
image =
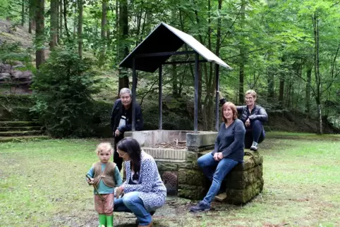
[[99, 91], [90, 59], [72, 51], [54, 51], [35, 73], [35, 106], [47, 132], [54, 137], [92, 135], [92, 94]]

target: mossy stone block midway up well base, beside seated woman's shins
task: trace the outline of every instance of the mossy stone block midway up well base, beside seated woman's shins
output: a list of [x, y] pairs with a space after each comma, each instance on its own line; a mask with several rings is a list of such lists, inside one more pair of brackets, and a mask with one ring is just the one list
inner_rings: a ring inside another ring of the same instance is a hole
[[202, 171], [190, 170], [187, 168], [178, 169], [178, 185], [203, 185], [205, 176]]

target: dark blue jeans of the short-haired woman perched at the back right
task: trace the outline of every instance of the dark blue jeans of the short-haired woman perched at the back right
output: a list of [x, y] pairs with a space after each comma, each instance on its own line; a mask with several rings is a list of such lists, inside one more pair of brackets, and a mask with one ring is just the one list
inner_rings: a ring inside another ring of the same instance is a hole
[[250, 127], [245, 128], [244, 140], [245, 149], [249, 149], [253, 142], [260, 143], [265, 140], [265, 130], [261, 121], [250, 121]]

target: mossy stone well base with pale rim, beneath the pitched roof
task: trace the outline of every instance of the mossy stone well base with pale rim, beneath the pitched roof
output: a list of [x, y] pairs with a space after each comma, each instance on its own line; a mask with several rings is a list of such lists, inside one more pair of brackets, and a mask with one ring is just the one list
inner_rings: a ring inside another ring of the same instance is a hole
[[[126, 132], [142, 149], [154, 157], [168, 195], [201, 200], [210, 183], [197, 165], [198, 157], [214, 149], [217, 132], [146, 130]], [[262, 191], [262, 157], [245, 152], [244, 163], [226, 176], [226, 201], [248, 202]]]

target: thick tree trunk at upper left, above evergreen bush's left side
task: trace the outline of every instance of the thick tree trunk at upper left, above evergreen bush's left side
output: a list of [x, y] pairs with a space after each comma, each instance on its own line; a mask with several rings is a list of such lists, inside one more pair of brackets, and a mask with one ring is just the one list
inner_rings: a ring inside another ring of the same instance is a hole
[[37, 50], [35, 51], [35, 65], [39, 69], [45, 61], [44, 54], [44, 0], [35, 0], [35, 39]]

